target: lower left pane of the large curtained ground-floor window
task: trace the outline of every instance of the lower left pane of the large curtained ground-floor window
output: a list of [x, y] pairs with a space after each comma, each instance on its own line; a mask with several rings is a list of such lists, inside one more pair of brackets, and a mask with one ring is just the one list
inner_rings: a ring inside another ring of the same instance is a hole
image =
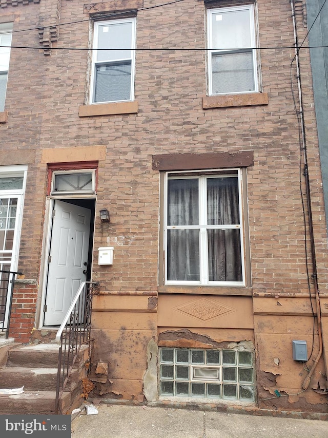
[[199, 230], [168, 230], [168, 280], [199, 281]]

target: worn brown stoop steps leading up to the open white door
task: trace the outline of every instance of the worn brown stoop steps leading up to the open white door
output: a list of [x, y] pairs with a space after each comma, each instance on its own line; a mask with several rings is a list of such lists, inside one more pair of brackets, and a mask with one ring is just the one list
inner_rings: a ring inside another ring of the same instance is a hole
[[[0, 394], [1, 414], [54, 414], [58, 345], [13, 345], [6, 366], [0, 369], [0, 388], [24, 386], [22, 394]], [[81, 380], [86, 377], [86, 348], [80, 352], [59, 404], [59, 413], [70, 413], [80, 402]]]

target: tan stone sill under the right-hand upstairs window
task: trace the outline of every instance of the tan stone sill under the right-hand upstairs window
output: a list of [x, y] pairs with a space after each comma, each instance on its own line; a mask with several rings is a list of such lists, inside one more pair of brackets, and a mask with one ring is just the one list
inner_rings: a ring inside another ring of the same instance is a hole
[[203, 109], [253, 105], [268, 105], [268, 93], [220, 94], [220, 96], [203, 97]]

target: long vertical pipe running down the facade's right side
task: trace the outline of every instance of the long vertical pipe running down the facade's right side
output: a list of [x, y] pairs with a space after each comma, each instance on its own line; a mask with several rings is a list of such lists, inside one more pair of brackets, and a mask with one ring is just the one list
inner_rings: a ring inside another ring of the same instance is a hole
[[[319, 295], [319, 287], [318, 287], [317, 264], [316, 264], [316, 254], [315, 254], [315, 244], [314, 244], [312, 208], [311, 208], [311, 191], [310, 191], [310, 179], [309, 179], [309, 172], [308, 172], [308, 157], [306, 154], [305, 125], [304, 125], [304, 117], [303, 117], [302, 88], [301, 88], [301, 78], [300, 78], [300, 65], [299, 65], [299, 56], [298, 56], [298, 38], [297, 38], [297, 30], [296, 30], [296, 17], [295, 17], [294, 0], [291, 0], [291, 8], [292, 8], [293, 27], [294, 27], [295, 60], [296, 60], [297, 85], [298, 85], [298, 96], [299, 96], [299, 106], [300, 106], [299, 114], [300, 114], [300, 125], [301, 125], [301, 132], [302, 132], [302, 149], [303, 149], [303, 159], [304, 159], [306, 201], [307, 201], [308, 212], [309, 212], [311, 260], [312, 260], [312, 268], [313, 268], [313, 281], [314, 281], [315, 299], [316, 299], [316, 307], [317, 307], [317, 321], [318, 321], [318, 335], [319, 335], [319, 352], [317, 354], [317, 357], [315, 358], [315, 361], [310, 369], [309, 374], [305, 377], [304, 382], [302, 384], [302, 388], [305, 390], [305, 389], [308, 389], [308, 387], [310, 385], [312, 374], [314, 373], [316, 366], [318, 365], [319, 359], [322, 355], [323, 344], [322, 344], [320, 295]], [[307, 255], [305, 255], [305, 256], [307, 256]], [[311, 296], [310, 296], [310, 299], [311, 299]], [[326, 371], [326, 373], [327, 373], [327, 371]]]

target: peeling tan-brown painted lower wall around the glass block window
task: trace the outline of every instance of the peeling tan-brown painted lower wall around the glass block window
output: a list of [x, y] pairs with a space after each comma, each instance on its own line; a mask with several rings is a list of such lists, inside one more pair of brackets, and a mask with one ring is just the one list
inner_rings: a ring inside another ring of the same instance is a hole
[[[159, 347], [227, 349], [245, 344], [253, 346], [255, 352], [254, 405], [281, 411], [326, 412], [328, 386], [323, 356], [309, 388], [302, 390], [308, 375], [306, 367], [312, 366], [319, 349], [316, 318], [309, 309], [307, 297], [277, 300], [159, 294], [157, 308], [156, 297], [99, 295], [93, 311], [94, 391], [105, 398], [144, 401], [149, 389], [145, 373], [151, 365], [152, 341], [157, 346], [153, 354]], [[307, 342], [307, 365], [293, 360], [293, 339]], [[99, 361], [108, 363], [108, 375], [94, 372]], [[154, 379], [157, 391], [157, 375]]]

